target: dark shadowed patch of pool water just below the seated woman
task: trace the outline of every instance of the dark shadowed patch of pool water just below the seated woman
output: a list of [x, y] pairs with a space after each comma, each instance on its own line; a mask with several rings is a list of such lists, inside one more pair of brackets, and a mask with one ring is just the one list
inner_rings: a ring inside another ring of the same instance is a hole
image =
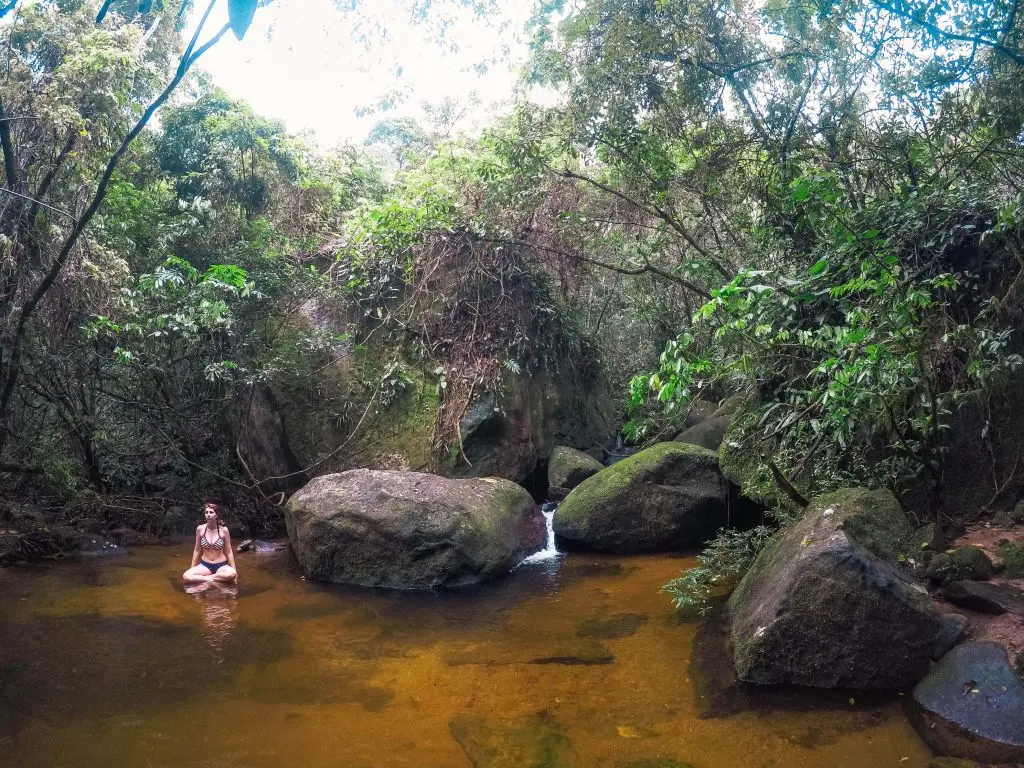
[[293, 654], [288, 632], [238, 625], [222, 602], [210, 608], [200, 633], [189, 625], [95, 614], [3, 623], [0, 734], [35, 718], [57, 726], [227, 694], [244, 665]]

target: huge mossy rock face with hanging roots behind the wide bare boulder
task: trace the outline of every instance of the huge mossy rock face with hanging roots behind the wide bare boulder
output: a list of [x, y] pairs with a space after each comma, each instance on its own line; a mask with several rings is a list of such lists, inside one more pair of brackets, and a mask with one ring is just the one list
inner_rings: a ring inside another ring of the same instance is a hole
[[[268, 334], [287, 375], [238, 398], [226, 425], [252, 473], [274, 478], [264, 489], [298, 488], [310, 468], [523, 482], [556, 445], [601, 445], [614, 432], [615, 408], [590, 352], [573, 365], [508, 373], [490, 388], [474, 386], [468, 402], [452, 401], [443, 369], [383, 335], [353, 343], [354, 309], [309, 302]], [[444, 453], [439, 425], [451, 429], [454, 418], [461, 442]]]

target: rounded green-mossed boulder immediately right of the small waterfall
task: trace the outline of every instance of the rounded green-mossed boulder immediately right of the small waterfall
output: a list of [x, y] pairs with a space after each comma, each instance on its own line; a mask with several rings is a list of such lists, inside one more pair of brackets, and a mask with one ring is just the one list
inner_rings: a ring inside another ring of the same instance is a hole
[[729, 524], [718, 458], [681, 442], [651, 445], [587, 478], [555, 510], [555, 534], [603, 552], [695, 547]]

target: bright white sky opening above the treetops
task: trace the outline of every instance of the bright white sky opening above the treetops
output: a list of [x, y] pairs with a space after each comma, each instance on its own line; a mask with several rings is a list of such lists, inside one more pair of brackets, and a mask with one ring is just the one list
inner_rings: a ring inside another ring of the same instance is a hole
[[[458, 126], [472, 130], [512, 96], [532, 2], [498, 0], [498, 12], [483, 18], [451, 0], [434, 2], [442, 10], [432, 12], [432, 24], [417, 24], [411, 0], [361, 0], [355, 11], [333, 0], [274, 0], [257, 10], [244, 40], [226, 35], [197, 69], [257, 113], [284, 120], [290, 132], [311, 132], [324, 147], [361, 141], [383, 118], [422, 119], [424, 101], [466, 101], [475, 92], [479, 105]], [[223, 24], [226, 5], [218, 3], [208, 29]], [[438, 39], [441, 13], [453, 23]], [[386, 100], [393, 103], [385, 111]]]

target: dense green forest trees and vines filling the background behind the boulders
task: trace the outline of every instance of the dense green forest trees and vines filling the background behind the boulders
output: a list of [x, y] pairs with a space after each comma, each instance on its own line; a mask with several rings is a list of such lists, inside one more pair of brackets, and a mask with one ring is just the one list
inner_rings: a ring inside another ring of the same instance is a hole
[[[365, 428], [429, 380], [440, 457], [481, 389], [586, 358], [637, 443], [741, 395], [724, 451], [765, 500], [938, 497], [959, 410], [1022, 361], [1011, 0], [545, 0], [523, 81], [556, 105], [479, 136], [387, 119], [333, 152], [188, 78], [224, 30], [189, 44], [171, 0], [105, 5], [11, 3], [2, 27], [17, 493], [262, 498], [233, 406], [315, 390], [310, 359], [351, 344], [387, 359], [330, 418]], [[313, 305], [345, 330], [300, 328]], [[1019, 474], [989, 421], [983, 506]]]

